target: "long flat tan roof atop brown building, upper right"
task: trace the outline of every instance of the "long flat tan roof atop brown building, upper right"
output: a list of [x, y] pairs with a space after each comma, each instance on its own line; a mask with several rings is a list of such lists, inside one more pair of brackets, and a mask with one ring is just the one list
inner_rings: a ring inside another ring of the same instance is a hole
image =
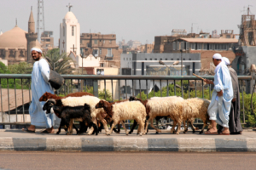
[[186, 42], [237, 43], [236, 38], [179, 38]]

